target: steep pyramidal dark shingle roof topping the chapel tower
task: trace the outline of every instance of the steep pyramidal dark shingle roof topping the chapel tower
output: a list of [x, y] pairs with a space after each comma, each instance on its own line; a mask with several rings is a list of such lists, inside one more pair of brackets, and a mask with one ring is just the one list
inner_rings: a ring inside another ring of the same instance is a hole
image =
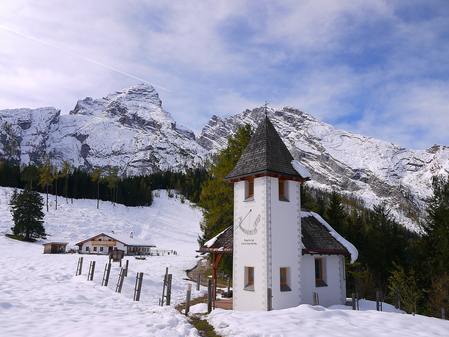
[[293, 156], [273, 124], [265, 118], [255, 130], [233, 170], [223, 180], [229, 181], [263, 173], [304, 179], [291, 165], [292, 160]]

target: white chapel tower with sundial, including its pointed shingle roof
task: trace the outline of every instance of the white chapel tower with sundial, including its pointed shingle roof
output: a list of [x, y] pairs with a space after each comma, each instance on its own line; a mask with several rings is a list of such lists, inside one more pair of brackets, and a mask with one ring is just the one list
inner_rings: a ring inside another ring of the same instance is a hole
[[[233, 309], [272, 310], [302, 302], [302, 177], [265, 116], [235, 168]], [[271, 297], [271, 301], [270, 301]]]

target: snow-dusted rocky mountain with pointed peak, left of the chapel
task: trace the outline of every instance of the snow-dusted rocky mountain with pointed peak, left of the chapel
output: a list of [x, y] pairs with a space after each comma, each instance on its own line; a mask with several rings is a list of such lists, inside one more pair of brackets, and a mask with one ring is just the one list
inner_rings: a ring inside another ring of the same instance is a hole
[[47, 154], [53, 164], [68, 160], [87, 170], [110, 165], [123, 176], [183, 169], [208, 154], [147, 84], [79, 100], [70, 115], [53, 107], [2, 110], [0, 132], [1, 159], [37, 163]]

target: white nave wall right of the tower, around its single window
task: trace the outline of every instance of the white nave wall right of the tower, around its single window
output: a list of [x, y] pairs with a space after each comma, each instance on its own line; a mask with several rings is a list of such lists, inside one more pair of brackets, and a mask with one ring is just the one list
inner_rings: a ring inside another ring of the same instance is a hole
[[[323, 280], [327, 287], [316, 287], [315, 258], [323, 259]], [[326, 260], [326, 269], [324, 267]], [[313, 293], [318, 293], [320, 306], [346, 303], [344, 257], [342, 255], [303, 255], [303, 303], [313, 304]]]

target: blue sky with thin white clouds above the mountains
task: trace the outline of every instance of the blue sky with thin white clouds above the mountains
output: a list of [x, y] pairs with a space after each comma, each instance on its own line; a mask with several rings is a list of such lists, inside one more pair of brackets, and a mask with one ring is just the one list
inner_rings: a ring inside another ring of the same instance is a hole
[[[447, 1], [3, 1], [0, 25], [145, 79], [196, 134], [211, 115], [295, 106], [414, 149], [449, 146]], [[0, 29], [0, 109], [140, 83]]]

